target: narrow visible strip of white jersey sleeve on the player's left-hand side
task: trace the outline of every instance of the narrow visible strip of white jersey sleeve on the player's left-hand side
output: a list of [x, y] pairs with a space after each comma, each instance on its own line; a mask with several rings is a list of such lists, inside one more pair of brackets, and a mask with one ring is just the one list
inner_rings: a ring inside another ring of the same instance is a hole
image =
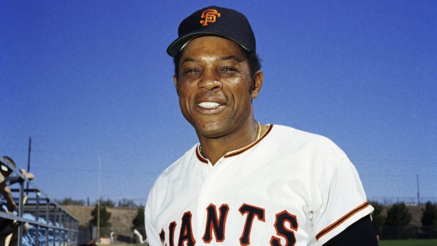
[[144, 223], [146, 227], [146, 236], [148, 240], [148, 244], [150, 246], [160, 246], [162, 245], [160, 239], [159, 239], [159, 232], [156, 229], [155, 223], [154, 223], [154, 216], [153, 216], [153, 208], [154, 208], [154, 197], [155, 197], [155, 187], [151, 189], [149, 193], [149, 197], [147, 197], [146, 207], [144, 208]]

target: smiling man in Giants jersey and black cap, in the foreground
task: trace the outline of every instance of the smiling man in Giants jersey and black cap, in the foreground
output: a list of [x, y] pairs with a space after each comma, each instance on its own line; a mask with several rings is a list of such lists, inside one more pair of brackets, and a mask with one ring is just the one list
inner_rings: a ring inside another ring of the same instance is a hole
[[151, 246], [377, 245], [358, 174], [329, 139], [253, 118], [263, 83], [244, 15], [210, 6], [167, 49], [199, 144], [156, 180]]

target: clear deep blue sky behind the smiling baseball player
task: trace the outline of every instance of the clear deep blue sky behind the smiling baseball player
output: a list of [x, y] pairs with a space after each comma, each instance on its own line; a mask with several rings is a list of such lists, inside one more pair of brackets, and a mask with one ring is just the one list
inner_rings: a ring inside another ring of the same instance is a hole
[[255, 118], [331, 138], [368, 197], [437, 197], [436, 1], [1, 1], [0, 155], [50, 197], [144, 203], [197, 143], [166, 54], [219, 5], [252, 24]]

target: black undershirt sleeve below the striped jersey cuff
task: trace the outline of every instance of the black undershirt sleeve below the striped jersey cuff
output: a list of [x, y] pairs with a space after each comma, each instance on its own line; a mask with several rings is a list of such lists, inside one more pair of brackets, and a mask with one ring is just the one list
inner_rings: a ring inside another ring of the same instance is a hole
[[370, 216], [365, 216], [340, 232], [323, 246], [378, 246]]

